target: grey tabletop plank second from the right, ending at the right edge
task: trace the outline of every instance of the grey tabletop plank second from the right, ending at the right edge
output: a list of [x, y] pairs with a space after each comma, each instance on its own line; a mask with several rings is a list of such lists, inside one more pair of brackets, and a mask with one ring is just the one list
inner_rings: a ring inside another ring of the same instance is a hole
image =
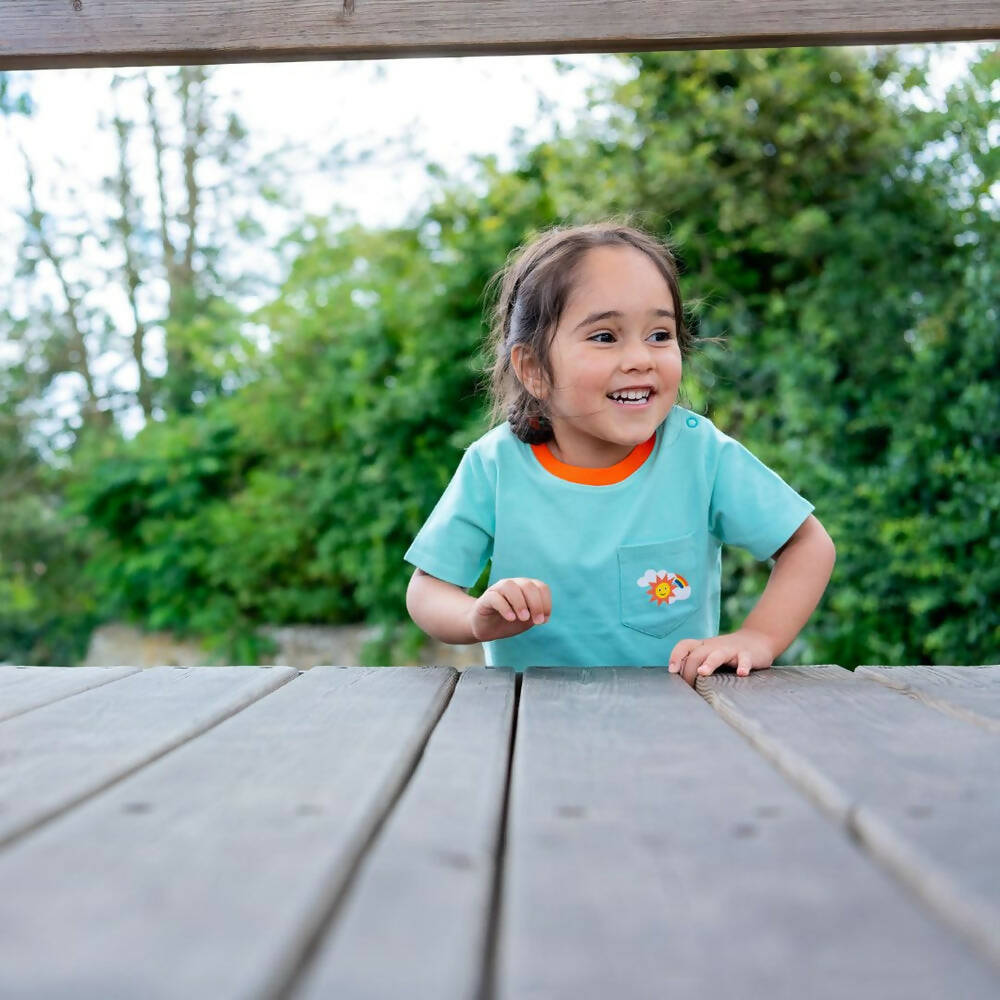
[[1000, 738], [838, 667], [699, 690], [1000, 969]]

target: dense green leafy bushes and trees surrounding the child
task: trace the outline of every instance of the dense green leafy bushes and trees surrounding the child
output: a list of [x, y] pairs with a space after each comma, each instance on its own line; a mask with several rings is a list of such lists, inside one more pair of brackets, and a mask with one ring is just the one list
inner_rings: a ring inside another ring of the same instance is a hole
[[[688, 365], [684, 401], [811, 499], [837, 543], [785, 661], [996, 662], [997, 55], [943, 111], [906, 102], [924, 67], [903, 56], [623, 57], [634, 78], [595, 89], [592, 120], [513, 169], [482, 158], [458, 183], [432, 166], [440, 194], [412, 224], [304, 220], [268, 305], [178, 320], [199, 406], [176, 383], [169, 419], [74, 457], [100, 614], [243, 661], [259, 624], [365, 620], [383, 626], [365, 662], [415, 656], [402, 555], [486, 429], [486, 283], [533, 233], [617, 215], [674, 240], [692, 321], [724, 338]], [[245, 347], [233, 360], [216, 341]], [[739, 551], [725, 569], [732, 628], [768, 569]]]

